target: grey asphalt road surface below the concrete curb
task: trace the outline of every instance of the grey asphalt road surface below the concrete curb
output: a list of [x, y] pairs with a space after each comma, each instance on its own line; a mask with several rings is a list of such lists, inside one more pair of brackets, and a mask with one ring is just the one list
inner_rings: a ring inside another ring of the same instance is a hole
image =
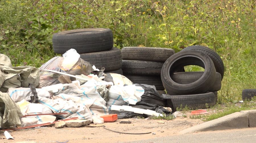
[[[157, 137], [147, 140], [138, 140], [140, 143], [193, 143], [193, 142], [224, 142], [224, 143], [244, 143], [256, 142], [256, 128], [232, 129], [222, 131], [197, 132], [183, 135]], [[135, 143], [135, 142], [131, 142]]]

